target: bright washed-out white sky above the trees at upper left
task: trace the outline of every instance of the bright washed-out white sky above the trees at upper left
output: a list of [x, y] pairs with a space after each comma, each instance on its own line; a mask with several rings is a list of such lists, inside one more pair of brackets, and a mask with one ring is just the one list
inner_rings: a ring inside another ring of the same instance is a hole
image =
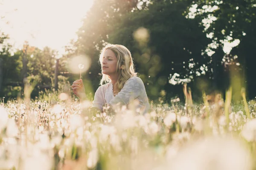
[[9, 34], [15, 48], [28, 41], [64, 53], [92, 4], [93, 0], [0, 0], [0, 31]]

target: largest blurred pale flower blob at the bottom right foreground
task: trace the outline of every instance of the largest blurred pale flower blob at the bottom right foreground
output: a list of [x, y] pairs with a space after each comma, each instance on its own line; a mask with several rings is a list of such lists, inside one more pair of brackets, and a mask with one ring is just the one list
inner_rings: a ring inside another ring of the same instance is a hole
[[235, 139], [194, 142], [168, 160], [172, 170], [251, 170], [250, 153]]

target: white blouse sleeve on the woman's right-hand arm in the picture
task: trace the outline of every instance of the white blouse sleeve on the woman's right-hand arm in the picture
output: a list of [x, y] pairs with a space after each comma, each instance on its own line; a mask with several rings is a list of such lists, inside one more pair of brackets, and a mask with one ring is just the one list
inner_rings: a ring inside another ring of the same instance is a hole
[[136, 99], [145, 89], [143, 81], [136, 77], [130, 78], [125, 82], [122, 90], [109, 102], [110, 105], [128, 105], [131, 99]]

